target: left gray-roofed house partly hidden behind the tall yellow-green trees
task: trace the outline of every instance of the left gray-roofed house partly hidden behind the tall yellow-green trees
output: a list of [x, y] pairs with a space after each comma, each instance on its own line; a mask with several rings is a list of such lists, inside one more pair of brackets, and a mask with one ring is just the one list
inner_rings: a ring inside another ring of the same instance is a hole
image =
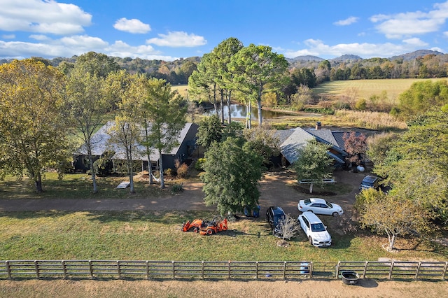
[[[96, 134], [92, 136], [92, 155], [94, 160], [104, 156], [106, 152], [113, 152], [111, 157], [112, 162], [126, 160], [126, 154], [122, 148], [119, 148], [116, 144], [110, 143], [111, 136], [108, 134], [109, 129], [114, 125], [113, 121], [109, 121], [101, 127]], [[188, 156], [193, 153], [196, 148], [196, 134], [198, 125], [194, 123], [187, 123], [178, 137], [179, 146], [173, 148], [170, 152], [162, 152], [162, 156], [159, 155], [158, 150], [151, 150], [150, 161], [148, 162], [148, 156], [146, 155], [146, 147], [141, 144], [137, 144], [137, 150], [134, 151], [132, 159], [137, 162], [141, 162], [141, 170], [148, 170], [148, 164], [151, 163], [151, 169], [159, 169], [159, 161], [162, 158], [162, 164], [165, 169], [175, 169], [176, 159], [183, 163]], [[73, 166], [76, 171], [86, 171], [90, 169], [88, 165], [87, 148], [85, 144], [76, 150], [73, 160]]]

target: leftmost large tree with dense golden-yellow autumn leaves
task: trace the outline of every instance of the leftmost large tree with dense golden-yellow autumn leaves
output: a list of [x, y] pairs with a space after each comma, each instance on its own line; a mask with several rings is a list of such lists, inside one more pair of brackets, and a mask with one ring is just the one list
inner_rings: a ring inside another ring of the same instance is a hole
[[27, 173], [36, 192], [42, 176], [69, 160], [64, 115], [62, 73], [33, 59], [0, 66], [0, 154], [3, 169], [22, 177]]

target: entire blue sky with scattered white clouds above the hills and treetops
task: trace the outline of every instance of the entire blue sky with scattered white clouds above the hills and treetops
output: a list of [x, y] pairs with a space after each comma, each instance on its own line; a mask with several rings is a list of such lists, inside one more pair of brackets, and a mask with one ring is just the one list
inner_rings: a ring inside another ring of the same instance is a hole
[[0, 58], [172, 61], [230, 37], [288, 58], [446, 53], [447, 20], [443, 0], [0, 0]]

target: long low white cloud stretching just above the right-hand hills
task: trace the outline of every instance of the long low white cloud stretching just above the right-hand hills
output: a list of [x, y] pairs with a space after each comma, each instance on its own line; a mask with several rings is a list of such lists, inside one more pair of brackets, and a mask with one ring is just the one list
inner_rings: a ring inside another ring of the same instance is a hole
[[294, 58], [302, 55], [313, 55], [317, 57], [339, 57], [346, 54], [358, 55], [362, 58], [392, 57], [405, 52], [418, 50], [425, 45], [419, 38], [403, 41], [402, 44], [394, 43], [339, 43], [337, 45], [326, 45], [323, 41], [308, 39], [304, 41], [306, 49], [287, 50], [284, 55]]

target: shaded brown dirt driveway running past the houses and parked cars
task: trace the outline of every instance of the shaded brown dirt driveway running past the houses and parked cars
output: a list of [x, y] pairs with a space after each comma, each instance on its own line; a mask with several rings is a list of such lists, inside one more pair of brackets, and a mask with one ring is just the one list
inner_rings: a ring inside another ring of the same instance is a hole
[[[340, 204], [344, 211], [349, 211], [360, 181], [365, 173], [336, 171], [336, 183], [345, 183], [353, 187], [349, 194], [326, 197]], [[275, 171], [265, 173], [260, 182], [260, 216], [268, 206], [281, 206], [286, 213], [298, 215], [299, 199], [310, 194], [297, 192], [288, 183], [296, 183], [292, 171]], [[148, 199], [17, 199], [0, 200], [0, 211], [203, 211], [216, 210], [214, 206], [205, 206], [202, 183], [183, 183], [184, 191], [164, 198]], [[323, 197], [325, 198], [325, 197]]]

